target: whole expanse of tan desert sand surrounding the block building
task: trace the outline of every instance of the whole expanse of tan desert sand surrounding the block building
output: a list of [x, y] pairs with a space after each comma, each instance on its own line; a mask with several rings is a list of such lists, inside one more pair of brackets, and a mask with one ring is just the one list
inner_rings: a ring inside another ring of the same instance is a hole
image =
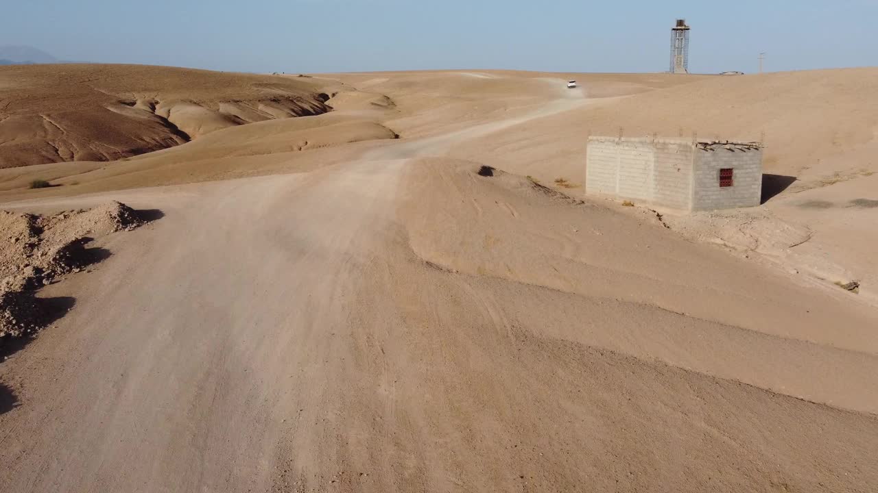
[[[0, 95], [21, 76], [5, 70]], [[173, 90], [155, 84], [176, 69], [94, 70], [103, 96], [69, 121], [153, 98], [210, 131], [157, 139], [155, 104], [149, 125], [115, 125], [155, 152], [71, 161], [43, 152], [45, 125], [9, 127], [27, 144], [0, 157], [27, 157], [0, 169], [3, 210], [119, 201], [153, 220], [95, 234], [107, 258], [37, 293], [66, 314], [4, 341], [0, 490], [878, 484], [878, 69], [191, 71]], [[325, 109], [220, 109], [266, 84]], [[34, 105], [16, 118], [49, 112], [8, 90]], [[680, 216], [584, 196], [587, 135], [620, 127], [765, 135], [766, 204]], [[95, 141], [64, 128], [65, 148]], [[853, 279], [859, 294], [835, 285]]]

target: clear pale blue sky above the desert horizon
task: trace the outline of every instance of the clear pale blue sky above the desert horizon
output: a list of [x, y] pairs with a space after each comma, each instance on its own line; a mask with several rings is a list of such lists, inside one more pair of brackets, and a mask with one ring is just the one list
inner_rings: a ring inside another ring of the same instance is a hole
[[878, 65], [878, 0], [30, 0], [0, 45], [64, 60], [253, 72], [521, 68], [654, 72], [674, 18], [694, 72]]

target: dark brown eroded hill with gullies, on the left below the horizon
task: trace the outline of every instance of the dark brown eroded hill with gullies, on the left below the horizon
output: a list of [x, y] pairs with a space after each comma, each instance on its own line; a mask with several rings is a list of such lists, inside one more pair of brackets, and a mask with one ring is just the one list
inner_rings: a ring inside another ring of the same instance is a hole
[[108, 161], [328, 111], [306, 78], [118, 65], [0, 68], [0, 168]]

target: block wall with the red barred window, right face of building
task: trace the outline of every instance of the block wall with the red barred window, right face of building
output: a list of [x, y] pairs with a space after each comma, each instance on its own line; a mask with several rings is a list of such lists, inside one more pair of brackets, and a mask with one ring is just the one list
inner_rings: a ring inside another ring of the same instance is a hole
[[[719, 170], [733, 170], [733, 184], [719, 186]], [[762, 149], [749, 146], [698, 146], [695, 149], [693, 211], [759, 205], [762, 199]]]

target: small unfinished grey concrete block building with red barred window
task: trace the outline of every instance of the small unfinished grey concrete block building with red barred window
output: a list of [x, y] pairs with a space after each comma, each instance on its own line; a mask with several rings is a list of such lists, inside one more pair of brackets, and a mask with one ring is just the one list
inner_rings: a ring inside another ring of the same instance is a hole
[[586, 193], [677, 211], [752, 207], [762, 195], [762, 146], [590, 137]]

